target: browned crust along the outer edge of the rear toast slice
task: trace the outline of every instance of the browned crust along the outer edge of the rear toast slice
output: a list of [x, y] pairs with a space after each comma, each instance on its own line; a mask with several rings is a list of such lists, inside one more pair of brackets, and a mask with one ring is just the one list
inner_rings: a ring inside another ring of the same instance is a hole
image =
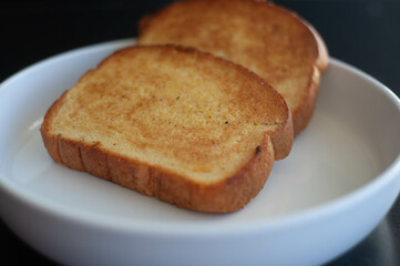
[[[203, 0], [204, 1], [204, 0]], [[295, 136], [297, 134], [299, 134], [309, 123], [309, 121], [311, 120], [314, 110], [315, 110], [315, 105], [316, 105], [316, 101], [317, 101], [317, 94], [318, 94], [318, 89], [319, 89], [319, 81], [320, 81], [320, 76], [324, 74], [324, 72], [326, 71], [327, 66], [328, 66], [328, 62], [329, 62], [329, 54], [328, 54], [328, 50], [327, 47], [322, 40], [322, 38], [319, 35], [319, 33], [304, 19], [301, 19], [300, 17], [298, 17], [297, 14], [286, 10], [285, 8], [278, 7], [276, 4], [273, 3], [268, 3], [266, 1], [257, 1], [257, 0], [235, 0], [235, 1], [229, 1], [229, 0], [217, 0], [220, 2], [229, 2], [229, 4], [233, 4], [233, 2], [235, 3], [240, 3], [244, 7], [252, 7], [254, 8], [254, 10], [257, 9], [270, 9], [274, 10], [274, 12], [277, 13], [281, 13], [285, 14], [287, 18], [290, 18], [291, 21], [294, 21], [296, 24], [301, 25], [302, 29], [305, 29], [308, 34], [307, 38], [309, 38], [310, 40], [314, 40], [314, 42], [310, 42], [307, 49], [314, 49], [312, 54], [314, 54], [314, 63], [308, 65], [309, 71], [308, 71], [308, 76], [307, 76], [307, 88], [299, 88], [299, 90], [304, 91], [301, 93], [301, 99], [297, 102], [299, 102], [296, 105], [290, 105], [291, 109], [291, 115], [293, 115], [293, 121], [294, 121], [294, 134]], [[188, 9], [186, 10], [188, 13], [189, 12], [196, 12], [196, 10], [192, 10], [189, 3], [191, 2], [197, 2], [196, 0], [188, 0], [188, 1], [182, 1], [182, 2], [176, 2], [173, 3], [162, 10], [160, 10], [158, 12], [154, 13], [154, 14], [150, 14], [143, 18], [143, 20], [140, 23], [140, 38], [139, 38], [139, 43], [140, 44], [163, 44], [163, 43], [173, 43], [173, 44], [180, 44], [180, 45], [185, 45], [185, 41], [176, 41], [176, 40], [171, 40], [171, 42], [166, 42], [165, 40], [167, 40], [168, 37], [168, 30], [164, 30], [162, 35], [163, 35], [163, 41], [157, 42], [157, 40], [147, 40], [146, 37], [148, 33], [151, 33], [154, 29], [154, 24], [162, 24], [163, 20], [171, 19], [168, 18], [168, 14], [171, 12], [172, 9], [181, 9], [182, 8], [182, 12], [185, 12], [184, 9], [185, 7], [188, 7]], [[212, 1], [212, 2], [216, 2], [216, 1]], [[187, 3], [187, 4], [186, 4]], [[186, 4], [186, 6], [185, 6]], [[222, 11], [223, 12], [223, 11]], [[177, 18], [177, 17], [176, 17]], [[253, 20], [253, 18], [249, 18], [249, 20]], [[154, 22], [155, 21], [155, 22]], [[263, 21], [254, 21], [255, 23], [263, 23]], [[155, 25], [157, 27], [157, 25]], [[176, 25], [174, 25], [174, 28], [176, 29]], [[188, 27], [186, 27], [186, 24], [182, 25], [182, 31], [180, 32], [182, 40], [184, 39], [185, 34], [189, 34], [191, 35], [191, 41], [193, 42], [193, 40], [196, 38], [196, 35], [193, 33], [193, 30], [189, 29]], [[218, 32], [215, 33], [215, 40], [218, 40]], [[220, 34], [225, 34], [223, 32], [220, 32]], [[166, 39], [165, 39], [166, 38]], [[175, 35], [176, 38], [176, 35]], [[187, 38], [187, 35], [185, 37]], [[284, 40], [283, 40], [284, 41]], [[202, 40], [198, 40], [198, 42], [201, 43]], [[203, 50], [202, 48], [197, 47], [196, 44], [191, 43], [191, 45], [194, 45], [201, 50]], [[226, 49], [230, 49], [230, 48], [226, 48]], [[218, 50], [218, 49], [216, 49]], [[207, 52], [212, 52], [207, 50]], [[216, 54], [218, 55], [218, 54]], [[227, 60], [230, 60], [229, 57], [224, 57]], [[259, 57], [261, 58], [261, 57]], [[254, 60], [259, 60], [258, 58], [254, 58]], [[235, 60], [234, 60], [235, 61]], [[240, 61], [235, 61], [235, 63], [242, 64]], [[248, 66], [246, 65], [246, 63], [243, 64], [244, 66]], [[255, 71], [257, 74], [259, 74], [261, 78], [265, 78], [261, 73], [258, 73], [257, 71]], [[266, 78], [267, 79], [267, 78]], [[267, 79], [268, 80], [268, 79]], [[274, 82], [270, 82], [274, 84]], [[276, 88], [277, 89], [277, 88]], [[279, 90], [278, 90], [279, 91]]]

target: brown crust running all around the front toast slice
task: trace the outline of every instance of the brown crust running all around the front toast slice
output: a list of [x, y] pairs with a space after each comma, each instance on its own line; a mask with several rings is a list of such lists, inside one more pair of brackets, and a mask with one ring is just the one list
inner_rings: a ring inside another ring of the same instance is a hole
[[[80, 82], [85, 82], [88, 79], [93, 78], [99, 68], [107, 68], [107, 63], [124, 60], [123, 57], [130, 57], [131, 52], [140, 53], [143, 51], [145, 53], [154, 50], [166, 52], [165, 54], [173, 52], [187, 54], [188, 57], [195, 54], [222, 68], [230, 68], [233, 71], [240, 72], [244, 79], [249, 82], [265, 83], [264, 80], [239, 65], [214, 58], [211, 54], [201, 53], [195, 49], [171, 45], [123, 49], [105, 59], [96, 70], [89, 71], [81, 78]], [[110, 76], [110, 79], [115, 79], [115, 76]], [[266, 83], [264, 86], [266, 90], [271, 90]], [[54, 134], [52, 132], [53, 120], [65, 104], [65, 101], [68, 101], [70, 92], [71, 90], [66, 91], [53, 103], [45, 114], [41, 126], [44, 145], [54, 162], [70, 168], [85, 171], [106, 181], [112, 181], [124, 187], [135, 190], [144, 195], [154, 196], [183, 208], [213, 213], [228, 213], [242, 208], [263, 188], [273, 167], [274, 160], [286, 156], [293, 144], [290, 111], [281, 100], [284, 105], [278, 104], [280, 106], [279, 112], [283, 112], [279, 115], [285, 117], [285, 121], [276, 130], [265, 134], [265, 137], [254, 150], [247, 163], [227, 178], [212, 183], [202, 183], [163, 166], [151, 165], [146, 162], [112, 152], [104, 149], [100, 142], [91, 143], [71, 140], [62, 134]], [[274, 90], [271, 90], [271, 93], [276, 94], [277, 99], [281, 99]], [[286, 108], [283, 109], [283, 106]]]

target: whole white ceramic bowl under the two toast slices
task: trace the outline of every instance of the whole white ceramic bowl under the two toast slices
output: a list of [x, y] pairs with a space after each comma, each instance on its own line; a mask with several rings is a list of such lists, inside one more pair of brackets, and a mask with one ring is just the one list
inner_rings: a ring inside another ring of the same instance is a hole
[[51, 161], [39, 127], [79, 76], [134, 40], [66, 52], [0, 86], [0, 211], [27, 243], [74, 265], [316, 265], [349, 249], [400, 188], [400, 103], [335, 59], [309, 126], [244, 209], [176, 208]]

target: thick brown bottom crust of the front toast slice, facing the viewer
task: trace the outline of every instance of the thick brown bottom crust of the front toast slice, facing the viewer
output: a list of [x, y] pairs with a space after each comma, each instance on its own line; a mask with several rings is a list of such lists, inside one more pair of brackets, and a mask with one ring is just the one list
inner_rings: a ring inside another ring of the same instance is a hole
[[49, 154], [61, 158], [54, 160], [57, 163], [198, 212], [230, 213], [243, 208], [264, 187], [274, 165], [274, 146], [268, 135], [254, 152], [253, 158], [233, 176], [203, 184], [85, 143], [53, 136], [45, 130], [41, 130], [41, 134]]

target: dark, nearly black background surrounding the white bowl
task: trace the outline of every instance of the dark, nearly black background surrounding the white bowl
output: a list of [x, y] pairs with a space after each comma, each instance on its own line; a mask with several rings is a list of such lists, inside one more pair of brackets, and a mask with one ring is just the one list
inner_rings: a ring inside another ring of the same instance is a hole
[[[136, 37], [139, 19], [168, 2], [1, 0], [0, 81], [70, 49]], [[400, 95], [400, 0], [274, 2], [314, 24], [331, 57], [363, 70]], [[1, 221], [0, 246], [0, 265], [53, 264]], [[329, 265], [400, 265], [400, 200], [371, 235]]]

